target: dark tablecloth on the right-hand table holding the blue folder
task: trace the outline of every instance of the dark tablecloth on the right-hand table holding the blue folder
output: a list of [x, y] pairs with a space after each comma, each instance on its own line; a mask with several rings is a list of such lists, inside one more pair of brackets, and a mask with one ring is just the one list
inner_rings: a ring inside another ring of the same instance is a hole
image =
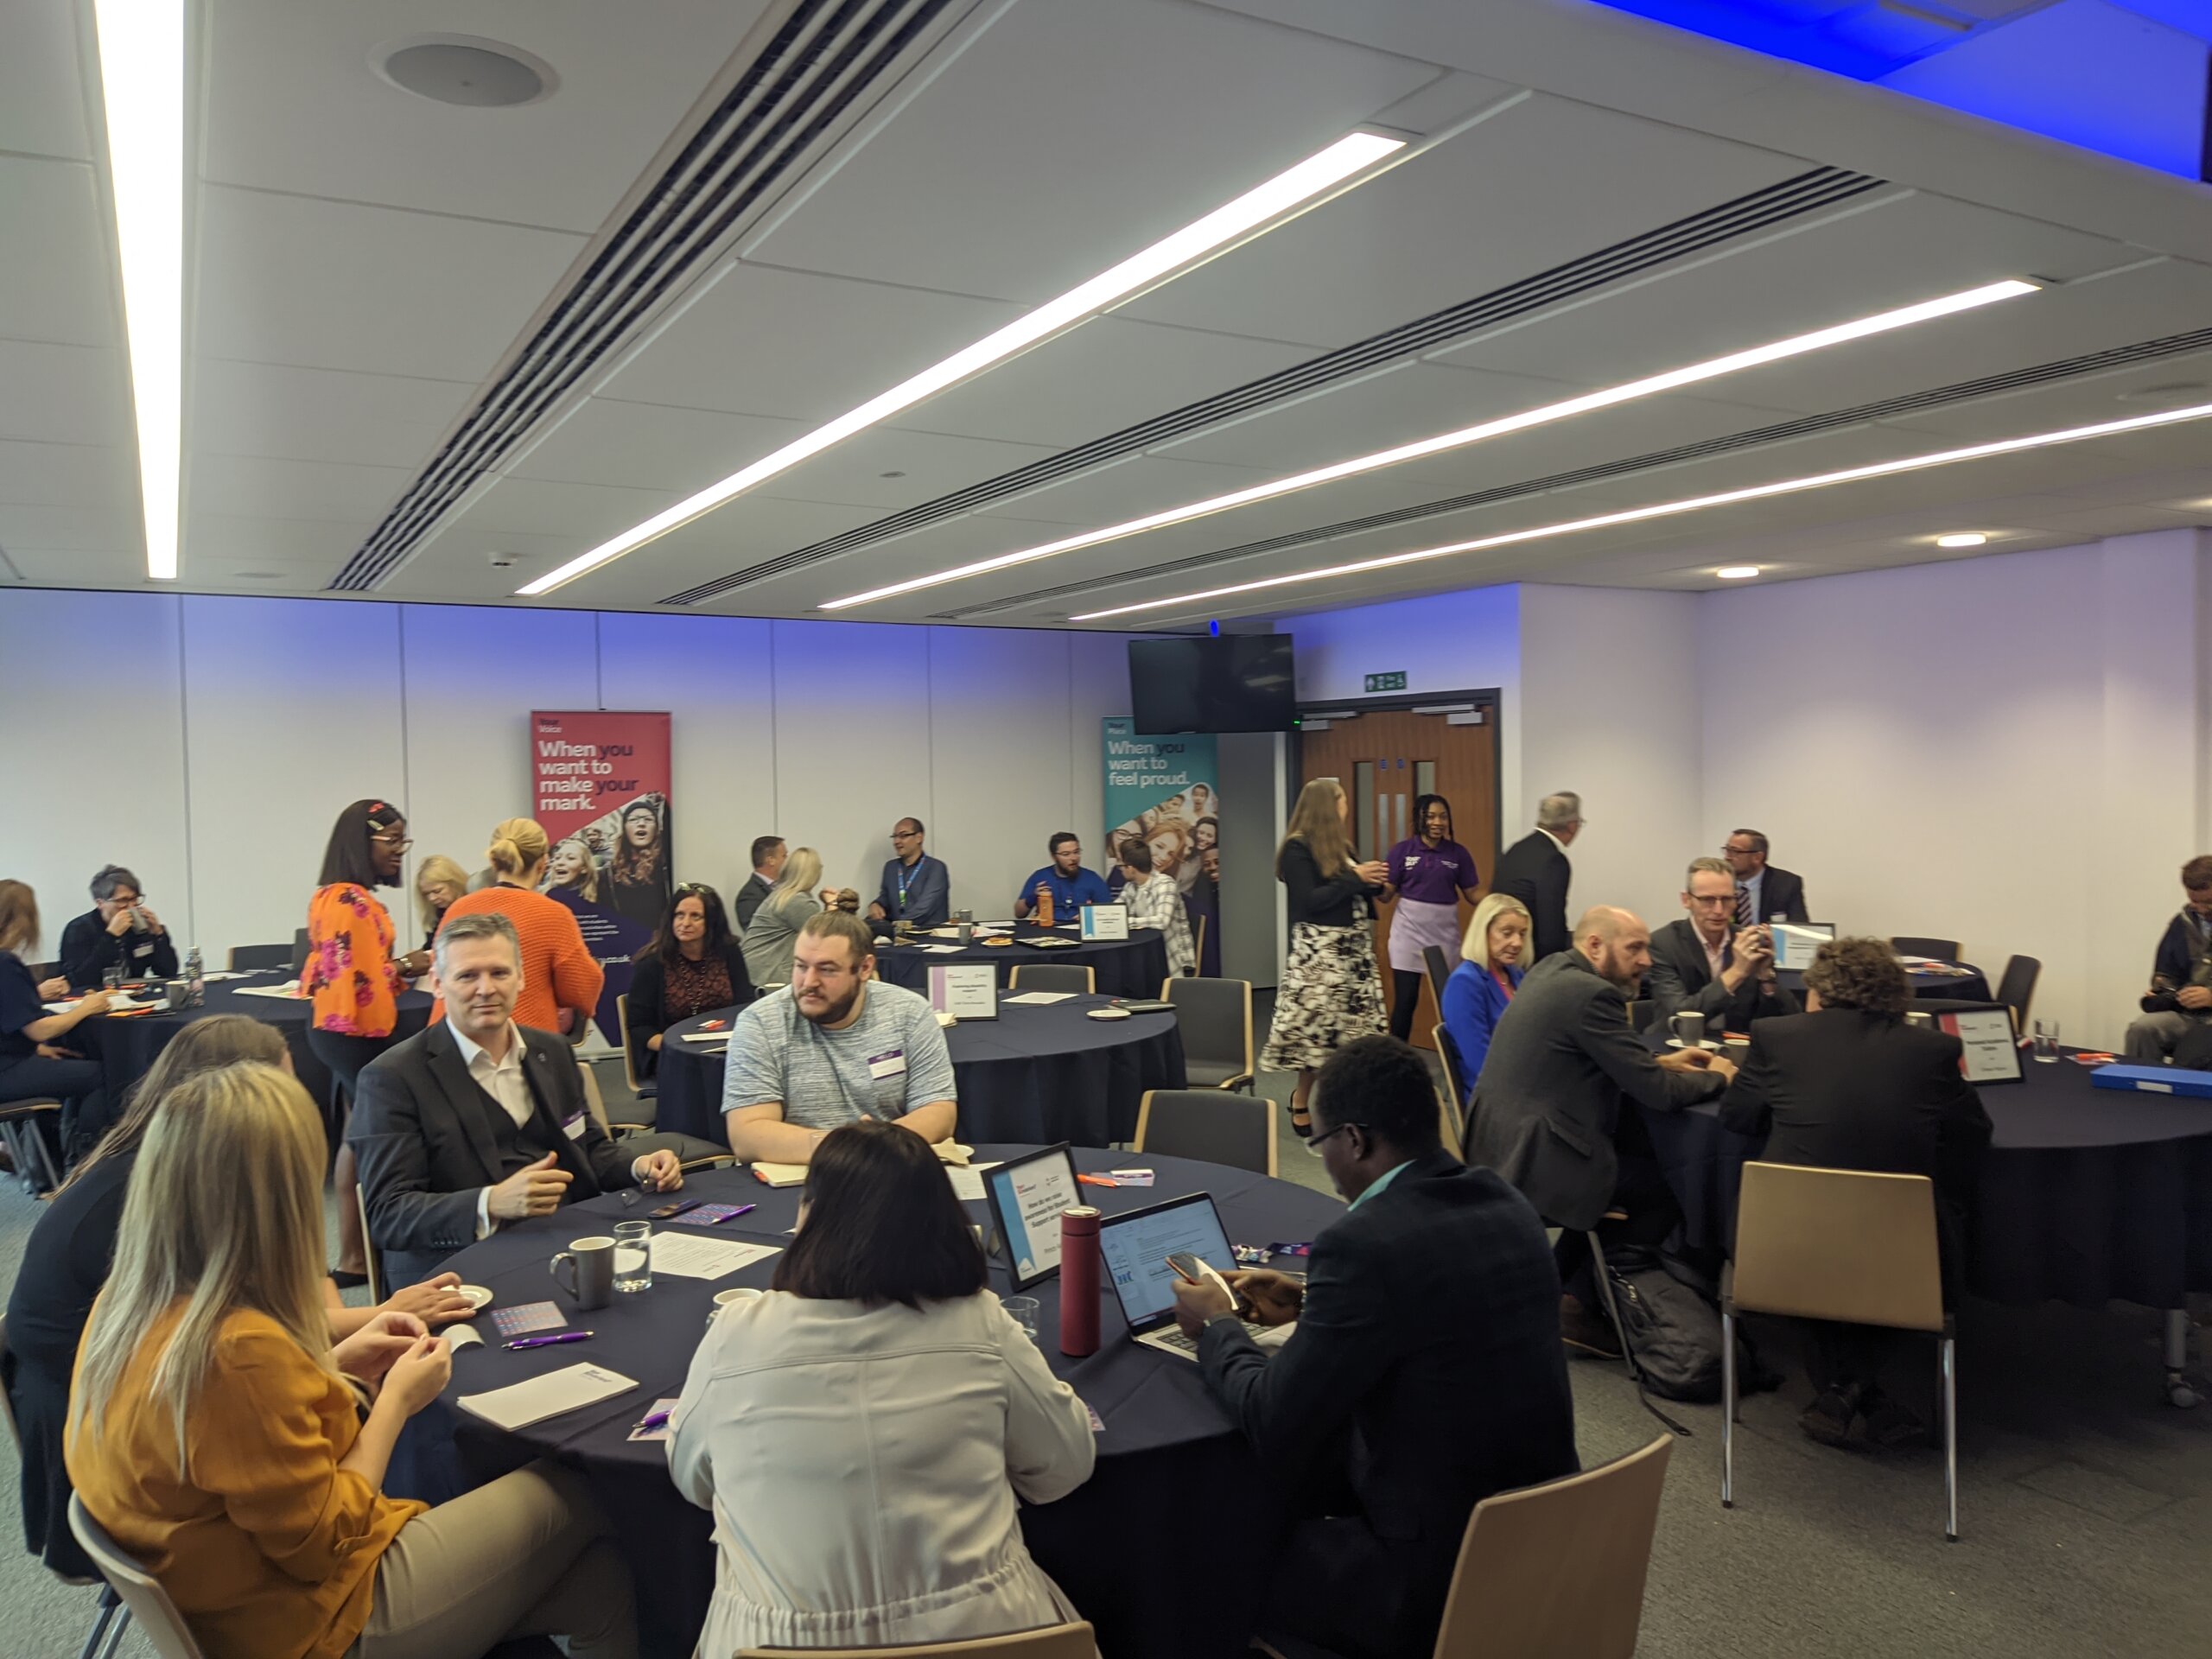
[[[1966, 1285], [2002, 1303], [2181, 1307], [2212, 1290], [2212, 1102], [2090, 1084], [2073, 1060], [1984, 1084], [1993, 1137], [1969, 1217]], [[1714, 1106], [1644, 1113], [1683, 1241], [1725, 1245], [1761, 1141]]]

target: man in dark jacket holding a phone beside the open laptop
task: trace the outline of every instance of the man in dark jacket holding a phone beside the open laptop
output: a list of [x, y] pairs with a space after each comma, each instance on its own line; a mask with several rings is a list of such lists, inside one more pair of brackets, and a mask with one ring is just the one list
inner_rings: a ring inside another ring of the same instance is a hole
[[1438, 1146], [1436, 1088], [1402, 1042], [1329, 1057], [1312, 1144], [1352, 1208], [1305, 1285], [1230, 1274], [1261, 1323], [1296, 1321], [1290, 1340], [1270, 1358], [1212, 1283], [1177, 1290], [1177, 1321], [1259, 1460], [1303, 1486], [1261, 1630], [1427, 1659], [1475, 1504], [1577, 1469], [1559, 1279], [1535, 1210]]

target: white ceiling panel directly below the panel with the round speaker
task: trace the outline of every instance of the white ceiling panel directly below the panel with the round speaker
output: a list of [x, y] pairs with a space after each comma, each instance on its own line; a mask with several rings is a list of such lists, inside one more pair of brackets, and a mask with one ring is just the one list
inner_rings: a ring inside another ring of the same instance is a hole
[[343, 201], [201, 192], [197, 349], [480, 380], [584, 239]]

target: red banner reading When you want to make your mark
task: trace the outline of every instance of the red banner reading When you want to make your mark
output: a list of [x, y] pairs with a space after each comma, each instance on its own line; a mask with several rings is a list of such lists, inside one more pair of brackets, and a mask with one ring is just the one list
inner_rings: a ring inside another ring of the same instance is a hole
[[615, 998], [675, 891], [668, 714], [533, 712], [531, 779], [553, 841], [544, 891], [575, 911], [606, 971], [593, 1024], [619, 1044]]

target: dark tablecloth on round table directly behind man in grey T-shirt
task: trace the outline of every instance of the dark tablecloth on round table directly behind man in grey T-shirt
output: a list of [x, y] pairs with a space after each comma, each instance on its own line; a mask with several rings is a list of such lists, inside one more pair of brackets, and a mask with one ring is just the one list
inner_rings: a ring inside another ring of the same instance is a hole
[[[1148, 1088], [1183, 1086], [1183, 1035], [1172, 1013], [1093, 1020], [1104, 995], [1000, 1004], [998, 1020], [962, 1020], [945, 1033], [960, 1088], [962, 1141], [1075, 1141], [1108, 1146], [1137, 1137]], [[708, 1020], [737, 1022], [739, 1009], [684, 1020], [661, 1040], [659, 1106], [653, 1126], [728, 1146], [721, 1121], [721, 1044], [688, 1042]]]

